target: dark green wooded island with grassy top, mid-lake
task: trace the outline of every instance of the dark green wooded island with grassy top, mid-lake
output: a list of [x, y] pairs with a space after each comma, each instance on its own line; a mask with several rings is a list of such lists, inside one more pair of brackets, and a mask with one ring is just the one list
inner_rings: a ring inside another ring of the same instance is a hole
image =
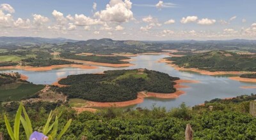
[[175, 80], [168, 74], [147, 69], [104, 71], [104, 74], [80, 74], [59, 81], [68, 87], [58, 88], [69, 98], [97, 102], [122, 102], [136, 99], [138, 92], [170, 94]]

